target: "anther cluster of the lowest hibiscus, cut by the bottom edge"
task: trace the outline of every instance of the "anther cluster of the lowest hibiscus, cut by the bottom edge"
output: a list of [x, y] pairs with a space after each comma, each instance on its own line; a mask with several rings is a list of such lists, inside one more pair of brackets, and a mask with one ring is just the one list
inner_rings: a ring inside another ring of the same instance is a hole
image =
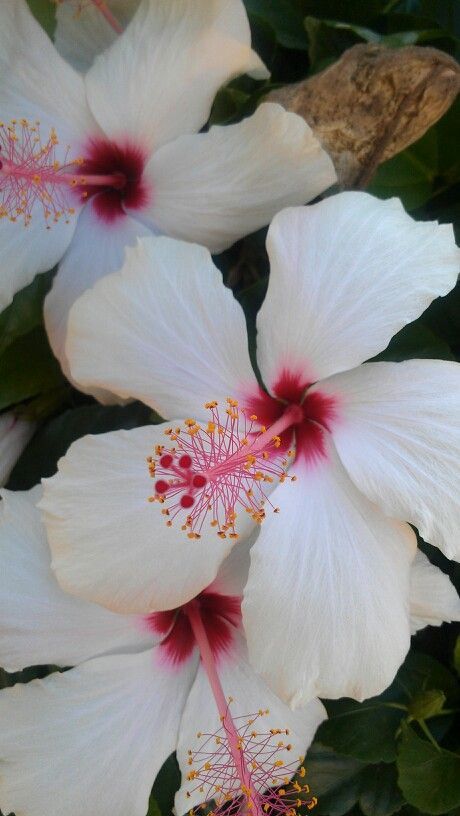
[[208, 816], [298, 816], [300, 807], [314, 808], [317, 799], [310, 795], [304, 781], [304, 757], [290, 759], [289, 729], [264, 731], [255, 727], [268, 714], [268, 709], [260, 709], [257, 714], [233, 718], [239, 767], [230, 747], [225, 717], [221, 717], [222, 725], [215, 733], [197, 734], [203, 742], [197, 750], [188, 752], [187, 779], [194, 784], [186, 796], [195, 797], [198, 792], [203, 804], [192, 808], [189, 816], [205, 808]]

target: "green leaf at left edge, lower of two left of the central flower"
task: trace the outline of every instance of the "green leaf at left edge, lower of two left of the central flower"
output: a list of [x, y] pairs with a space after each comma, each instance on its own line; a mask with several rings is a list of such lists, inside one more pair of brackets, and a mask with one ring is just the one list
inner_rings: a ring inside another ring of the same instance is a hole
[[18, 337], [0, 357], [0, 410], [65, 383], [40, 326]]

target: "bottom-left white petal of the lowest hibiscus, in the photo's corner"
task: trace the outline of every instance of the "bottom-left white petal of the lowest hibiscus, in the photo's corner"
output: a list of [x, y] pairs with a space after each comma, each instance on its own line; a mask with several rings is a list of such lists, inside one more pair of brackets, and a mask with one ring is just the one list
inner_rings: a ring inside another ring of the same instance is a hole
[[194, 671], [160, 674], [150, 651], [2, 691], [3, 812], [145, 816]]

